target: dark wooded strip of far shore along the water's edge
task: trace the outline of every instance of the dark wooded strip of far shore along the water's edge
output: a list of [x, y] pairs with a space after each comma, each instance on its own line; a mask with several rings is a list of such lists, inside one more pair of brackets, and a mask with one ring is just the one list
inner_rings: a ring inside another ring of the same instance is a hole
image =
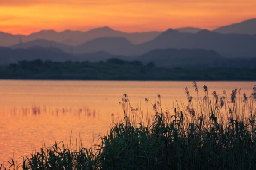
[[256, 80], [255, 67], [206, 66], [195, 64], [161, 68], [156, 67], [154, 62], [143, 64], [115, 58], [105, 62], [52, 62], [37, 59], [0, 66], [0, 79]]

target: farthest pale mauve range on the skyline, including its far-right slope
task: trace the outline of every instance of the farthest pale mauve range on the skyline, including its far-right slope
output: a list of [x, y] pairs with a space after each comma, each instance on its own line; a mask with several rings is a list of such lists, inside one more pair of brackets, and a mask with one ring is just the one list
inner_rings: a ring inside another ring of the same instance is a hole
[[[179, 32], [186, 33], [198, 33], [202, 29], [194, 27], [184, 27], [176, 29]], [[256, 18], [243, 21], [241, 23], [235, 23], [229, 26], [222, 26], [218, 29], [214, 29], [213, 32], [222, 34], [256, 34]], [[107, 26], [91, 29], [86, 32], [65, 30], [62, 32], [56, 32], [54, 30], [42, 30], [30, 35], [12, 35], [9, 33], [0, 32], [0, 46], [9, 47], [21, 42], [34, 41], [36, 39], [45, 39], [49, 41], [55, 41], [61, 44], [70, 46], [78, 46], [85, 42], [102, 38], [102, 37], [123, 37], [130, 41], [132, 44], [141, 44], [146, 41], [150, 41], [160, 35], [162, 31], [152, 32], [121, 32], [111, 29]]]

